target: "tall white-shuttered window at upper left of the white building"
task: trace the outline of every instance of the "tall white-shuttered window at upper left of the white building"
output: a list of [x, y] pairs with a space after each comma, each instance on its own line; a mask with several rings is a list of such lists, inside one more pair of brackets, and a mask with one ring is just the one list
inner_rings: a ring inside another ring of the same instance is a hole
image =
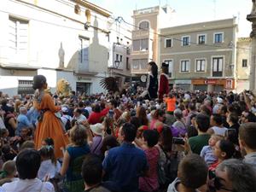
[[17, 58], [19, 61], [23, 59], [27, 61], [28, 49], [28, 21], [18, 20], [9, 17], [9, 50], [10, 55]]

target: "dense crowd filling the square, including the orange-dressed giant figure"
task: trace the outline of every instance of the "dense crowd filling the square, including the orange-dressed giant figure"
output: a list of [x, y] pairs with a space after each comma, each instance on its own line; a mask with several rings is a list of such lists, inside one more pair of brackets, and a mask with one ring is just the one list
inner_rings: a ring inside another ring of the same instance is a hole
[[1, 192], [256, 191], [251, 91], [147, 99], [141, 87], [61, 97], [44, 76], [33, 86], [0, 93]]

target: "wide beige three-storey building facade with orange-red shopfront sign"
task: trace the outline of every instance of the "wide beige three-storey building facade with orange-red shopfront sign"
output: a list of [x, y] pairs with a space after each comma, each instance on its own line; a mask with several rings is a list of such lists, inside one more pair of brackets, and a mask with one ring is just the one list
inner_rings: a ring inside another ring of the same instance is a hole
[[160, 29], [160, 61], [183, 90], [236, 89], [236, 18]]

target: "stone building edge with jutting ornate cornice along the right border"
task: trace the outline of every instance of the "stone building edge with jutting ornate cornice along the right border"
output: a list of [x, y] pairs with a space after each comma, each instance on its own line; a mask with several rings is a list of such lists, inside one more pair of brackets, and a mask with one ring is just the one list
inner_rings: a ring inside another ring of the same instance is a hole
[[256, 65], [256, 3], [253, 2], [253, 9], [250, 15], [247, 15], [247, 20], [252, 22], [252, 32], [250, 37], [252, 38], [252, 52], [251, 52], [251, 70], [250, 70], [250, 90], [255, 91], [255, 65]]

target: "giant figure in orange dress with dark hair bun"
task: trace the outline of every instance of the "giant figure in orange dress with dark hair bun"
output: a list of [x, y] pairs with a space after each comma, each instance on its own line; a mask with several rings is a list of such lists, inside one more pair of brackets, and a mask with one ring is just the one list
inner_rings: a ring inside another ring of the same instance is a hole
[[33, 78], [33, 89], [36, 90], [34, 107], [40, 113], [34, 136], [36, 148], [41, 148], [42, 141], [46, 137], [51, 137], [55, 141], [55, 157], [61, 158], [63, 156], [61, 148], [65, 148], [69, 143], [61, 119], [55, 115], [60, 112], [61, 107], [55, 106], [53, 98], [44, 91], [47, 89], [47, 82], [43, 75], [36, 75]]

